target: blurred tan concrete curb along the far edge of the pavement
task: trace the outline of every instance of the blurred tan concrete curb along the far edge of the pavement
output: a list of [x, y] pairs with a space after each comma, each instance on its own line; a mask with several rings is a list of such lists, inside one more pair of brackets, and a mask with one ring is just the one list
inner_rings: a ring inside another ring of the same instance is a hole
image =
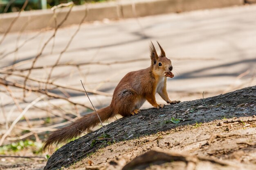
[[[136, 16], [180, 13], [242, 4], [244, 4], [244, 0], [117, 0], [88, 4], [89, 12], [85, 22], [103, 20], [105, 18], [117, 20]], [[73, 7], [63, 26], [79, 24], [85, 15], [85, 10], [85, 5]], [[56, 10], [58, 24], [65, 18], [68, 11], [69, 8]], [[0, 14], [0, 33], [5, 33], [17, 16], [17, 12]], [[20, 17], [18, 17], [10, 31], [20, 31], [22, 27], [25, 27], [26, 30], [35, 30], [47, 27], [54, 28], [54, 26], [54, 13], [51, 9], [25, 11], [20, 13]]]

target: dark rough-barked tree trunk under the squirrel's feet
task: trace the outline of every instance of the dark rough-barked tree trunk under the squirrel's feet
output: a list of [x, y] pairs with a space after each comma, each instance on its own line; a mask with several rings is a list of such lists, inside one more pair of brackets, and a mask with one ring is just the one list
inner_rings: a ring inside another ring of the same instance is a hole
[[[177, 126], [211, 122], [223, 117], [253, 116], [256, 113], [256, 86], [211, 98], [166, 105], [163, 109], [145, 109], [136, 116], [121, 118], [58, 149], [48, 160], [45, 170], [67, 167], [112, 142], [134, 139]], [[247, 105], [250, 107], [240, 107]], [[179, 119], [179, 123], [175, 119]], [[89, 136], [90, 135], [90, 136]]]

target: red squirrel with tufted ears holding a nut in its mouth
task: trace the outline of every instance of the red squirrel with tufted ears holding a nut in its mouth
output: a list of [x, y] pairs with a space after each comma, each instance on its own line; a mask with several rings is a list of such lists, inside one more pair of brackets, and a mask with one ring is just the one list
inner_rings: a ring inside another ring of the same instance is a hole
[[[97, 111], [101, 121], [106, 121], [117, 114], [123, 117], [139, 113], [139, 108], [147, 100], [153, 107], [159, 109], [164, 105], [157, 104], [155, 94], [158, 93], [168, 104], [176, 104], [180, 101], [170, 100], [166, 91], [166, 77], [173, 77], [171, 60], [165, 56], [163, 48], [159, 45], [161, 54], [158, 56], [151, 41], [149, 46], [151, 65], [142, 70], [129, 72], [121, 79], [114, 90], [111, 104]], [[51, 133], [46, 140], [43, 150], [47, 150], [52, 144], [67, 142], [81, 135], [83, 131], [100, 123], [96, 112], [89, 113], [62, 129]]]

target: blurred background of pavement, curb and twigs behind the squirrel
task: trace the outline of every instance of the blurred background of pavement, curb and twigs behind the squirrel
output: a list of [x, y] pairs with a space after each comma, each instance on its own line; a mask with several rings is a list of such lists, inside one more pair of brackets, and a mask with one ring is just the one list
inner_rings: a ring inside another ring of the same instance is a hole
[[150, 41], [173, 63], [171, 100], [256, 85], [254, 2], [0, 0], [0, 169], [42, 168], [49, 133], [92, 111], [81, 81], [109, 105], [125, 74], [150, 65]]

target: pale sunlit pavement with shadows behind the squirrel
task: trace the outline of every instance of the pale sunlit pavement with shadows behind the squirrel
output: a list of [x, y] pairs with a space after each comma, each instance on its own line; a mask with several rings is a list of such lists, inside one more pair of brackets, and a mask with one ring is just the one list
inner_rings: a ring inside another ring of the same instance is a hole
[[[112, 93], [126, 73], [150, 65], [148, 45], [150, 40], [154, 43], [157, 40], [164, 48], [167, 57], [173, 61], [175, 68], [173, 72], [175, 77], [169, 78], [167, 83], [171, 99], [195, 100], [202, 98], [203, 92], [206, 98], [255, 85], [255, 18], [256, 5], [250, 5], [82, 24], [70, 48], [63, 54], [61, 63], [145, 60], [110, 66], [84, 65], [80, 67], [81, 72], [75, 67], [58, 67], [53, 72], [53, 78], [61, 75], [56, 82], [81, 89], [80, 79], [82, 79], [88, 89]], [[76, 29], [77, 25], [61, 28], [55, 37], [53, 53], [51, 54], [53, 45], [51, 41], [36, 62], [36, 66], [54, 64]], [[0, 45], [0, 54], [12, 51], [16, 44], [20, 45], [37, 34], [37, 31], [25, 32], [17, 42], [19, 34], [10, 33]], [[15, 57], [18, 61], [35, 57], [52, 34], [53, 31], [41, 32], [17, 53], [0, 60], [0, 69], [11, 65]], [[18, 68], [28, 68], [30, 65], [31, 63], [27, 63]], [[47, 73], [49, 69], [35, 70], [31, 76], [45, 78]], [[239, 76], [242, 73], [245, 75]], [[102, 81], [107, 82], [100, 83]], [[88, 99], [83, 94], [70, 92], [70, 95], [72, 100], [89, 105]], [[6, 106], [6, 109], [10, 110], [14, 105], [12, 100], [3, 93], [1, 98], [3, 104], [10, 103]], [[92, 99], [97, 107], [107, 105], [111, 100], [110, 97], [104, 96], [92, 96]], [[165, 103], [159, 96], [157, 101]], [[52, 102], [67, 105], [62, 100], [52, 100]], [[43, 102], [40, 104], [42, 105]], [[27, 104], [23, 104], [22, 107], [25, 105]], [[143, 107], [151, 106], [146, 102]], [[31, 117], [38, 114], [33, 111], [28, 112]]]

